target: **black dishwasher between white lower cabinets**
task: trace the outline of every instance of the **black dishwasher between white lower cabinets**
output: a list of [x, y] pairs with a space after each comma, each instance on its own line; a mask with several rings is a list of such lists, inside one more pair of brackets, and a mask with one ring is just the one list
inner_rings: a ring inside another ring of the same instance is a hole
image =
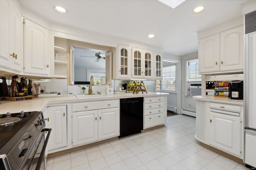
[[143, 98], [120, 99], [120, 136], [143, 130]]

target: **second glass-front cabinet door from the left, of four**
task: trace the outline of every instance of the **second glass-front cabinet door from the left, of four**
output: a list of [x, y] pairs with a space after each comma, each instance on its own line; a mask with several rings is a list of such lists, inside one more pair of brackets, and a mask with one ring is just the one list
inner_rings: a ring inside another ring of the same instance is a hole
[[142, 78], [142, 49], [132, 47], [132, 78]]

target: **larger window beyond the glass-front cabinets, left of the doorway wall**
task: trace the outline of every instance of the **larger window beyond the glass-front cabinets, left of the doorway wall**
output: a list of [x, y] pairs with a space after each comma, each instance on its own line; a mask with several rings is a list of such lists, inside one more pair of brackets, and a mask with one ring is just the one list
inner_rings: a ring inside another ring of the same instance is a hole
[[176, 64], [163, 67], [163, 79], [156, 81], [157, 90], [176, 91]]

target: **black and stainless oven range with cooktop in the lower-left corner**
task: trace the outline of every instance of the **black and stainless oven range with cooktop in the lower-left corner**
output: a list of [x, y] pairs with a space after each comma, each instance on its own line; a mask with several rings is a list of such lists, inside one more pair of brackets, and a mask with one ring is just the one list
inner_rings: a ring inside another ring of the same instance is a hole
[[[12, 123], [6, 123], [11, 120]], [[14, 120], [14, 121], [13, 121]], [[44, 134], [47, 133], [46, 139]], [[0, 170], [45, 169], [45, 150], [51, 129], [41, 111], [9, 113], [0, 118]], [[40, 155], [38, 157], [38, 155]], [[2, 168], [1, 162], [5, 163]], [[8, 167], [8, 166], [9, 167]]]

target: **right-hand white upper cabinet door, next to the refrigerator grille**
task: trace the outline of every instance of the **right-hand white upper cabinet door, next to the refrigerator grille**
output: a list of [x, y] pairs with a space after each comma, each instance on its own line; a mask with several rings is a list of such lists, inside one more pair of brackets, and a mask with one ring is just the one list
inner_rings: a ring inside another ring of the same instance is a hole
[[220, 33], [220, 70], [243, 71], [244, 69], [243, 26]]

